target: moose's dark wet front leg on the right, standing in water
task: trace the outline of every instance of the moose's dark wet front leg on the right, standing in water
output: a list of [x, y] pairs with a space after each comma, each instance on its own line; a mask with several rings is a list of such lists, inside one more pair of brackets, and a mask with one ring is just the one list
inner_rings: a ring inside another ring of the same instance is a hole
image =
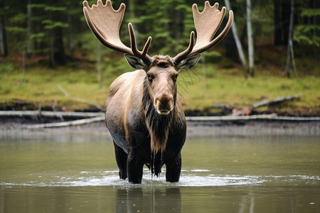
[[166, 162], [166, 182], [178, 182], [181, 173], [181, 153]]

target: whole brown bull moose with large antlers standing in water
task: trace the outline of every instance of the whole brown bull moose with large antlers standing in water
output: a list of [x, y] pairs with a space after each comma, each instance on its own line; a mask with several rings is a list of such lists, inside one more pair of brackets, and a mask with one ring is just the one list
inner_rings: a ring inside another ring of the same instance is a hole
[[122, 3], [116, 11], [110, 0], [101, 0], [89, 6], [83, 2], [87, 25], [100, 42], [124, 53], [129, 65], [136, 69], [117, 77], [110, 85], [105, 104], [105, 123], [114, 143], [114, 153], [119, 168], [119, 178], [131, 183], [141, 183], [143, 167], [159, 176], [166, 165], [166, 181], [178, 182], [181, 174], [181, 148], [186, 141], [186, 118], [177, 93], [178, 72], [196, 66], [201, 53], [212, 48], [228, 33], [233, 23], [233, 11], [229, 11], [228, 23], [218, 31], [225, 7], [218, 10], [218, 3], [210, 6], [206, 1], [202, 12], [193, 4], [192, 31], [188, 48], [174, 58], [147, 52], [151, 37], [142, 51], [137, 49], [132, 23], [128, 24], [131, 47], [119, 38], [119, 28], [124, 16]]

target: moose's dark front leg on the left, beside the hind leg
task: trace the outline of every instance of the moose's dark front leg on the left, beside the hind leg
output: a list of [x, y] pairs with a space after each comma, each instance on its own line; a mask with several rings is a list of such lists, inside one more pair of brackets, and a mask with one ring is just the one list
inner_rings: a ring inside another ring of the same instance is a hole
[[144, 163], [140, 162], [133, 151], [128, 154], [127, 172], [128, 180], [131, 183], [141, 183]]

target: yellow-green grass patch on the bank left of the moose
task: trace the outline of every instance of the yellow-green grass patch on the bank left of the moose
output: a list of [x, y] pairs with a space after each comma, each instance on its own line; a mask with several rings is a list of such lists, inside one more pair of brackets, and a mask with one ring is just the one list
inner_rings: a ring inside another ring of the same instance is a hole
[[[63, 110], [82, 110], [89, 106], [75, 102], [70, 97], [87, 99], [102, 106], [103, 99], [107, 97], [107, 88], [100, 87], [95, 73], [86, 70], [71, 70], [65, 67], [55, 70], [43, 67], [30, 68], [26, 70], [26, 77], [20, 87], [20, 70], [3, 73], [1, 76], [1, 102], [18, 99], [33, 103], [37, 108], [39, 104], [50, 107], [56, 101], [57, 107]], [[70, 97], [66, 97], [58, 85], [63, 87]]]

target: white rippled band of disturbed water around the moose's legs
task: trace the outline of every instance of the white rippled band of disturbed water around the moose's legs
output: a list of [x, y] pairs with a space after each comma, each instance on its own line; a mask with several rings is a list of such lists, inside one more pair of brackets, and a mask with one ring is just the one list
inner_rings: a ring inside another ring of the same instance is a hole
[[[183, 170], [180, 182], [166, 182], [164, 174], [160, 177], [151, 177], [149, 170], [144, 170], [142, 186], [183, 186], [183, 187], [217, 187], [240, 185], [292, 184], [302, 182], [304, 185], [319, 185], [320, 177], [307, 175], [288, 176], [258, 176], [258, 175], [213, 175], [210, 170]], [[1, 182], [4, 187], [29, 186], [29, 187], [86, 187], [86, 186], [127, 186], [127, 180], [119, 180], [118, 170], [110, 171], [82, 171], [69, 176], [52, 176], [51, 178], [36, 176], [30, 182]]]

